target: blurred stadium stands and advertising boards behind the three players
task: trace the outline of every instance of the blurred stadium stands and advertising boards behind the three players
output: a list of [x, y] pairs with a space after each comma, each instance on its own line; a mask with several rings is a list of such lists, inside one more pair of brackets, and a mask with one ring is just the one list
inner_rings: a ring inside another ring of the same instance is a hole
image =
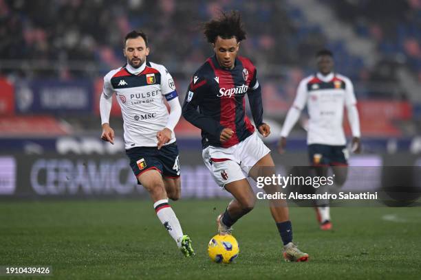
[[[125, 34], [142, 29], [182, 102], [212, 55], [199, 23], [232, 9], [248, 31], [240, 53], [259, 69], [273, 150], [299, 80], [327, 47], [358, 98], [364, 152], [351, 165], [421, 165], [421, 0], [0, 0], [0, 196], [144, 196], [116, 102], [116, 145], [100, 141], [102, 78], [125, 63]], [[305, 126], [303, 114], [288, 153], [273, 152], [279, 167], [307, 165]], [[175, 132], [183, 197], [226, 196], [202, 163], [199, 130], [181, 119]]]

